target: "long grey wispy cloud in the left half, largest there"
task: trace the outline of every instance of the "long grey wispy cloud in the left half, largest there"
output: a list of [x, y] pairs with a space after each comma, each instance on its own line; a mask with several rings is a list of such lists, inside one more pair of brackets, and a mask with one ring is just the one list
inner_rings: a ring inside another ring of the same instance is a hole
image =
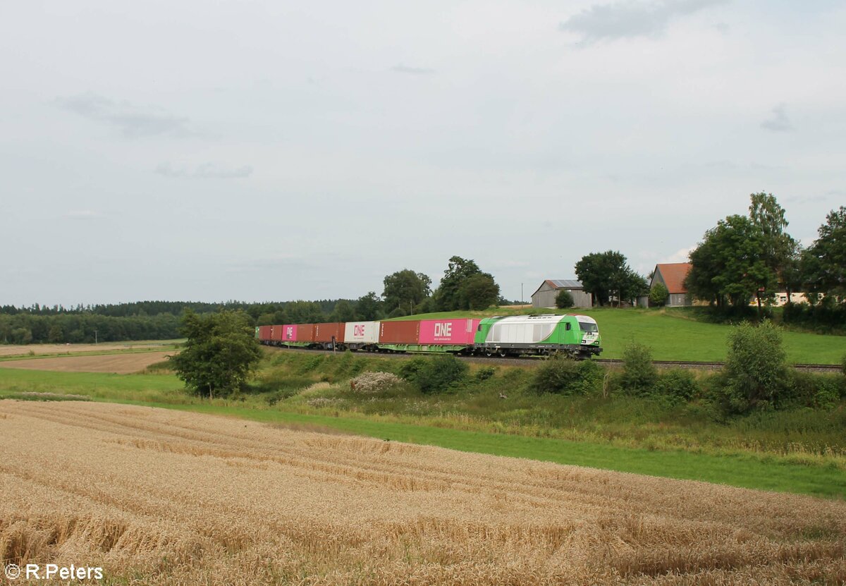
[[127, 138], [199, 135], [191, 127], [190, 119], [173, 116], [160, 108], [139, 108], [125, 101], [115, 102], [92, 92], [57, 97], [55, 102], [69, 112], [113, 126]]

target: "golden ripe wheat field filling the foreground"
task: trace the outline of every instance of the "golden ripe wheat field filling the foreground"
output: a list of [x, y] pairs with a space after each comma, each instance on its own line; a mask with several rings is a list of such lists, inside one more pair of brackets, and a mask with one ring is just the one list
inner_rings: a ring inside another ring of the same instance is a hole
[[840, 501], [141, 406], [0, 401], [0, 495], [4, 558], [120, 583], [846, 579]]

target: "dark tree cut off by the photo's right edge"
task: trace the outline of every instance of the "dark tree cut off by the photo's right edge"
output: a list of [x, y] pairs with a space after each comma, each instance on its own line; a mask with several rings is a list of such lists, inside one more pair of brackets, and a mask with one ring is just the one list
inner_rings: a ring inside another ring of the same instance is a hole
[[832, 210], [817, 230], [818, 238], [802, 256], [805, 290], [846, 298], [846, 207]]

